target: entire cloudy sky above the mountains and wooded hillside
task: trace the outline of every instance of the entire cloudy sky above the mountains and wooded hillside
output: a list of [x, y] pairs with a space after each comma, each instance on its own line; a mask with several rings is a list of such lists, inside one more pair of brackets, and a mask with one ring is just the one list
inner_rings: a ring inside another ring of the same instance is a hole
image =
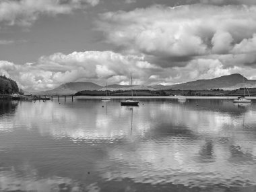
[[154, 86], [256, 79], [255, 0], [1, 0], [0, 75]]

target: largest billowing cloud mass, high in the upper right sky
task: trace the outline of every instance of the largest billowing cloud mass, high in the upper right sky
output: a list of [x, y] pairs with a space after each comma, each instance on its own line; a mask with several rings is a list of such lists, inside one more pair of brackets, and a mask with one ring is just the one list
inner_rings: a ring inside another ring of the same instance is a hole
[[159, 65], [164, 61], [162, 67], [184, 66], [195, 56], [229, 54], [250, 39], [256, 32], [256, 7], [155, 5], [104, 13], [97, 29], [121, 51], [146, 54]]

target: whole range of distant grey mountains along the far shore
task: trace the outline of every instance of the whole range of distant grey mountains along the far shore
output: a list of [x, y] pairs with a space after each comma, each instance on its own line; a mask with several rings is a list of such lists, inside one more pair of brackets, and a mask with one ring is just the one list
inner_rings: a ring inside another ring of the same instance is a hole
[[[256, 88], [256, 80], [249, 80], [243, 75], [235, 73], [232, 75], [224, 75], [214, 79], [199, 79], [193, 82], [186, 82], [183, 84], [177, 84], [172, 86], [138, 86], [134, 85], [133, 90], [210, 90], [210, 89], [224, 89], [235, 90], [238, 88]], [[117, 90], [131, 90], [131, 86], [113, 84], [107, 88], [109, 91]], [[92, 82], [71, 82], [63, 84], [53, 90], [47, 90], [44, 92], [35, 92], [37, 95], [56, 95], [56, 94], [75, 94], [83, 90], [99, 90], [105, 91], [106, 86], [99, 86]]]

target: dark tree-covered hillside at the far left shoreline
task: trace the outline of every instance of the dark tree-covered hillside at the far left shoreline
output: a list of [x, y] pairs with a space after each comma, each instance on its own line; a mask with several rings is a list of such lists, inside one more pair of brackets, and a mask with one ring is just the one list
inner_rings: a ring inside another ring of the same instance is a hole
[[13, 94], [18, 93], [18, 85], [13, 79], [0, 75], [0, 94]]

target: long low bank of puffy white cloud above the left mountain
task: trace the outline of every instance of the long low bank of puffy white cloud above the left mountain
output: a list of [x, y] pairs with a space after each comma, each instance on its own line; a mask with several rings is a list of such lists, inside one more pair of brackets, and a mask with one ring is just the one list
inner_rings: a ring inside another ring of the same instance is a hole
[[[135, 82], [145, 83], [150, 71], [158, 67], [141, 56], [121, 55], [112, 51], [55, 53], [40, 57], [36, 63], [15, 65], [0, 61], [1, 74], [11, 76], [21, 88], [29, 91], [55, 88], [65, 82], [95, 82], [129, 84], [133, 71]], [[136, 80], [137, 79], [137, 80]]]

